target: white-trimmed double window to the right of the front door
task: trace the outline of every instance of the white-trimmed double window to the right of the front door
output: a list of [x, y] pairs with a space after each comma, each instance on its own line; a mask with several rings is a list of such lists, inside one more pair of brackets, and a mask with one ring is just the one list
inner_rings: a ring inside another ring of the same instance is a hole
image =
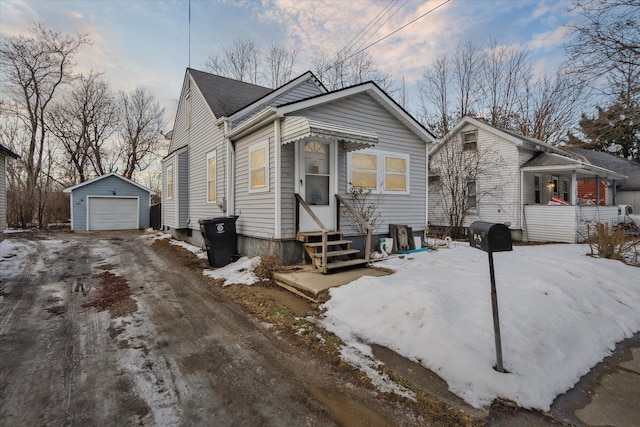
[[409, 194], [409, 156], [377, 150], [349, 153], [349, 185], [393, 194]]

